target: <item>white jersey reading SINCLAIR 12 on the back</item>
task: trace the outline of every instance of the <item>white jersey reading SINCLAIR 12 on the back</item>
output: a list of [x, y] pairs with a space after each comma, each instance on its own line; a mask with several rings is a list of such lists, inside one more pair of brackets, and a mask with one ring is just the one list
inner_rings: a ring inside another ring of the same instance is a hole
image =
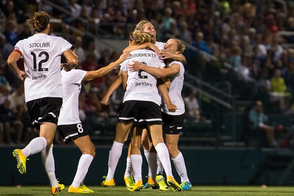
[[62, 98], [60, 57], [71, 47], [63, 38], [44, 33], [16, 43], [14, 51], [24, 59], [26, 102], [37, 98]]

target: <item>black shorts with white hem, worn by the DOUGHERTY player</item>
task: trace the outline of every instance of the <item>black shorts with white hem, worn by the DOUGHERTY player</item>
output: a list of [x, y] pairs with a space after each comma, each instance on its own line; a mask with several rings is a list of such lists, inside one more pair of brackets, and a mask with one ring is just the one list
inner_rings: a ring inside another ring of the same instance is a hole
[[160, 106], [152, 101], [128, 100], [122, 105], [118, 122], [134, 122], [135, 126], [161, 125]]

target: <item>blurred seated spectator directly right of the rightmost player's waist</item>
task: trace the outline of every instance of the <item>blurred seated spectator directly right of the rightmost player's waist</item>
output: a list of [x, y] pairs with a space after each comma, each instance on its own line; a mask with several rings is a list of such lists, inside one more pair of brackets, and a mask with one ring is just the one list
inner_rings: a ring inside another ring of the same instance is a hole
[[188, 97], [184, 98], [185, 105], [187, 108], [187, 113], [189, 118], [192, 119], [200, 119], [200, 108], [198, 104], [198, 100], [196, 98], [196, 92], [192, 91]]

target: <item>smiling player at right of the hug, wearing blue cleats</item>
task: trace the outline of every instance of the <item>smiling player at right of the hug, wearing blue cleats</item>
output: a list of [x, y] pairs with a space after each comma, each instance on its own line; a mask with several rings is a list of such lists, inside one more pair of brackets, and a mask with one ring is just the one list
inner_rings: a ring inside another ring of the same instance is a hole
[[[185, 45], [177, 39], [169, 39], [164, 49], [172, 54], [183, 53]], [[153, 76], [167, 77], [169, 76], [171, 85], [169, 88], [169, 96], [173, 104], [177, 105], [175, 112], [168, 111], [165, 101], [162, 101], [162, 124], [163, 131], [165, 132], [165, 144], [171, 155], [174, 166], [181, 177], [181, 187], [183, 190], [191, 190], [191, 183], [187, 175], [187, 169], [184, 161], [184, 157], [181, 151], [178, 149], [178, 141], [180, 137], [180, 131], [183, 128], [185, 103], [181, 96], [181, 92], [184, 84], [184, 65], [172, 59], [166, 60], [169, 65], [166, 69], [154, 68], [146, 66], [138, 61], [128, 65], [129, 71], [144, 71]]]

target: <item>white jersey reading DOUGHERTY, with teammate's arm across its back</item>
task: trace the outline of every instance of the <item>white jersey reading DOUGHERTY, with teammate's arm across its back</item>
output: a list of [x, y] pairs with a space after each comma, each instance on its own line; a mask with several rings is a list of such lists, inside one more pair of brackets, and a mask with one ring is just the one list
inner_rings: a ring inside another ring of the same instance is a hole
[[153, 50], [137, 49], [132, 51], [131, 54], [131, 58], [121, 64], [121, 70], [128, 72], [127, 89], [123, 102], [127, 100], [144, 100], [160, 105], [161, 100], [156, 86], [157, 78], [144, 71], [130, 72], [127, 65], [133, 63], [133, 60], [147, 64], [150, 67], [162, 68], [165, 64]]

